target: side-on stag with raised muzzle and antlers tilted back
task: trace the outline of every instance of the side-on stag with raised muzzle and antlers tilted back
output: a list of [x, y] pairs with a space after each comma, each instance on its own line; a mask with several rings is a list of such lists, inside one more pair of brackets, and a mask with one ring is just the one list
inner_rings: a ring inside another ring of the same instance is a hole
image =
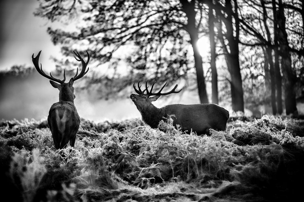
[[[150, 125], [152, 128], [157, 128], [159, 121], [164, 120], [163, 117], [168, 118], [168, 115], [174, 114], [173, 125], [176, 124], [181, 126], [182, 131], [187, 131], [189, 134], [192, 131], [196, 132], [198, 135], [207, 134], [210, 136], [209, 129], [224, 131], [226, 129], [226, 123], [229, 118], [229, 112], [216, 105], [216, 104], [169, 104], [162, 108], [155, 107], [151, 102], [156, 101], [161, 95], [168, 95], [171, 93], [179, 93], [175, 91], [175, 87], [168, 93], [161, 93], [161, 91], [166, 86], [167, 82], [157, 93], [152, 93], [152, 84], [150, 91], [147, 86], [143, 91], [140, 89], [140, 84], [138, 82], [138, 90], [133, 84], [135, 92], [138, 94], [131, 94], [130, 98], [136, 105], [138, 111], [143, 118], [143, 121]], [[146, 94], [144, 92], [146, 91]], [[150, 97], [154, 95], [154, 97]]]

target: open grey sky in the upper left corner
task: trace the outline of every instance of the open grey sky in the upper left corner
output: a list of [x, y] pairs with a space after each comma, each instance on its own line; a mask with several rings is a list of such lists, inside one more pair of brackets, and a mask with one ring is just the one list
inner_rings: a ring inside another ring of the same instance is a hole
[[0, 70], [12, 65], [33, 65], [31, 56], [40, 50], [43, 70], [55, 67], [50, 56], [60, 56], [60, 48], [52, 44], [46, 32], [50, 22], [33, 15], [38, 6], [37, 0], [0, 1]]

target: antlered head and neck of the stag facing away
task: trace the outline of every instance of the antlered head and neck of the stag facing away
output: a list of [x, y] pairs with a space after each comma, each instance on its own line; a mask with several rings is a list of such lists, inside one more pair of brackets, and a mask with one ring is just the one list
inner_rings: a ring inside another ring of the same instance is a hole
[[[36, 58], [34, 58], [34, 54], [32, 55], [32, 61], [33, 61], [33, 64], [36, 68], [36, 70], [38, 71], [38, 73], [48, 79], [50, 79], [50, 84], [54, 87], [54, 88], [57, 88], [59, 90], [59, 101], [71, 101], [74, 103], [74, 99], [75, 99], [75, 95], [74, 95], [74, 87], [73, 87], [73, 83], [74, 81], [76, 81], [77, 79], [80, 79], [82, 78], [88, 71], [89, 71], [89, 68], [87, 71], [86, 68], [87, 68], [87, 65], [90, 61], [90, 55], [87, 51], [87, 55], [88, 55], [88, 60], [85, 62], [81, 56], [79, 55], [79, 53], [76, 51], [73, 51], [74, 54], [78, 57], [78, 59], [75, 57], [75, 59], [77, 61], [81, 61], [81, 64], [82, 64], [82, 69], [81, 69], [81, 72], [79, 73], [78, 75], [78, 68], [77, 68], [77, 71], [76, 71], [76, 74], [74, 77], [72, 77], [70, 79], [70, 81], [68, 83], [64, 83], [65, 81], [65, 70], [64, 70], [64, 73], [63, 73], [63, 80], [59, 80], [57, 78], [54, 78], [52, 76], [52, 74], [50, 73], [50, 75], [47, 75], [46, 73], [44, 73], [44, 71], [42, 70], [42, 65], [40, 63], [40, 67], [39, 67], [39, 57], [40, 57], [40, 53], [41, 51], [39, 51], [38, 55], [36, 56]], [[55, 82], [54, 82], [55, 81]], [[57, 83], [56, 83], [57, 82]], [[59, 83], [59, 84], [58, 84]]]

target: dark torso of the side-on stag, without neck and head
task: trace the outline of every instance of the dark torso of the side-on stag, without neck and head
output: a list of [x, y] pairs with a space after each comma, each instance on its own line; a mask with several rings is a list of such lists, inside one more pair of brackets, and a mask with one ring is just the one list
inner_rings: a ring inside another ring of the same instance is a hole
[[209, 129], [225, 131], [229, 112], [216, 104], [170, 104], [161, 110], [164, 117], [174, 114], [173, 125], [181, 126], [182, 131], [190, 134], [191, 130], [198, 135], [207, 134]]

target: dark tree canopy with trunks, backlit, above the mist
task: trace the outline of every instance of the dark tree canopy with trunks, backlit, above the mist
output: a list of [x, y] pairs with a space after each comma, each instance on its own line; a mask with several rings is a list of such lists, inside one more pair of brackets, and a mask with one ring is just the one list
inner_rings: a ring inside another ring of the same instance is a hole
[[[71, 48], [88, 50], [95, 66], [108, 64], [113, 70], [103, 79], [96, 74], [91, 84], [119, 80], [111, 91], [120, 91], [139, 80], [173, 84], [195, 76], [201, 103], [209, 102], [206, 81], [212, 81], [212, 102], [217, 103], [218, 92], [226, 96], [220, 92], [225, 90], [234, 111], [244, 111], [244, 100], [253, 101], [248, 92], [264, 85], [271, 95], [255, 103], [270, 99], [274, 114], [282, 113], [283, 102], [287, 114], [296, 111], [304, 80], [302, 1], [43, 0], [35, 15], [67, 22], [48, 28], [63, 55], [71, 55]], [[199, 53], [203, 36], [210, 39], [210, 65]]]

